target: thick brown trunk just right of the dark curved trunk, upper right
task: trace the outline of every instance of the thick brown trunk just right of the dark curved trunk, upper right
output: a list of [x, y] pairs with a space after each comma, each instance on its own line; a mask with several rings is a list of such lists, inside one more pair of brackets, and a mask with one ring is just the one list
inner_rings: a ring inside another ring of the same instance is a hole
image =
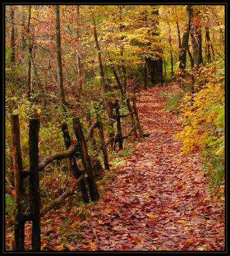
[[199, 13], [194, 14], [193, 6], [190, 6], [190, 19], [191, 19], [190, 35], [191, 35], [192, 54], [193, 54], [195, 68], [199, 68], [199, 65], [203, 63], [201, 24], [200, 24], [198, 15]]

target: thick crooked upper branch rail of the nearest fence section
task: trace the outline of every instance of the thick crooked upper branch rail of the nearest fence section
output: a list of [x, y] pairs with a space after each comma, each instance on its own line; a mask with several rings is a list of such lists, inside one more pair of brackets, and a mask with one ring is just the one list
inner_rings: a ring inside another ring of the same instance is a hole
[[[47, 166], [47, 164], [51, 163], [54, 160], [62, 160], [62, 159], [65, 159], [68, 156], [71, 156], [72, 154], [75, 153], [76, 150], [77, 150], [77, 145], [73, 144], [64, 153], [52, 154], [50, 156], [47, 156], [47, 157], [43, 158], [42, 161], [38, 164], [38, 171], [39, 172], [42, 171], [45, 168], [45, 166]], [[22, 175], [23, 178], [26, 178], [26, 177], [29, 176], [29, 173], [30, 173], [30, 168], [29, 168], [29, 166], [27, 166], [21, 172], [21, 175]]]

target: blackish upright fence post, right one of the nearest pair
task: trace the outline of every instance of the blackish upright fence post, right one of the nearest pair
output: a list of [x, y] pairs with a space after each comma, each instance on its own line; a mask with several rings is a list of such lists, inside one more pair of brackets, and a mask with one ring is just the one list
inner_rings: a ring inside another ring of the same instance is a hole
[[41, 250], [40, 239], [40, 188], [38, 179], [38, 134], [40, 119], [29, 120], [30, 209], [32, 224], [32, 250]]

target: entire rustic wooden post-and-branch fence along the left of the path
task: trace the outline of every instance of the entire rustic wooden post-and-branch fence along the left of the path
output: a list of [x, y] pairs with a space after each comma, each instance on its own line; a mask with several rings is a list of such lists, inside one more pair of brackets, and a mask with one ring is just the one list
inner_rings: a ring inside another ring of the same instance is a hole
[[[134, 112], [132, 114], [137, 115], [137, 111], [134, 106]], [[105, 170], [109, 170], [109, 161], [107, 156], [107, 145], [114, 141], [114, 147], [116, 143], [119, 145], [119, 149], [123, 148], [123, 140], [128, 138], [132, 132], [136, 132], [138, 129], [138, 124], [128, 132], [127, 135], [122, 136], [121, 132], [121, 118], [128, 115], [120, 115], [119, 113], [119, 103], [118, 100], [114, 102], [115, 115], [114, 119], [117, 124], [117, 134], [114, 138], [109, 138], [105, 141], [104, 136], [104, 125], [101, 122], [100, 115], [96, 115], [96, 121], [91, 123], [91, 126], [84, 136], [82, 132], [82, 126], [79, 118], [73, 118], [73, 130], [77, 138], [77, 143], [72, 144], [70, 134], [68, 131], [68, 126], [66, 123], [61, 124], [61, 129], [63, 131], [63, 138], [65, 141], [66, 152], [59, 154], [52, 154], [42, 159], [39, 162], [38, 159], [38, 136], [40, 130], [40, 119], [33, 118], [29, 120], [29, 166], [22, 170], [22, 156], [20, 150], [20, 124], [19, 115], [11, 115], [11, 138], [12, 138], [12, 152], [13, 152], [13, 170], [14, 170], [14, 181], [15, 181], [15, 225], [14, 225], [14, 241], [13, 250], [22, 252], [24, 251], [24, 225], [26, 221], [32, 221], [32, 250], [40, 251], [40, 218], [46, 212], [50, 211], [57, 205], [61, 204], [63, 200], [72, 195], [79, 186], [81, 189], [82, 200], [85, 203], [89, 203], [89, 197], [92, 201], [98, 200], [100, 195], [96, 187], [94, 180], [93, 170], [91, 166], [91, 160], [89, 158], [88, 149], [86, 143], [89, 141], [91, 134], [94, 129], [98, 128], [98, 135], [102, 145], [100, 145], [100, 150], [103, 152], [104, 156], [104, 166]], [[140, 132], [141, 134], [141, 132]], [[148, 136], [148, 134], [146, 135]], [[82, 165], [84, 166], [84, 171], [79, 170], [77, 166], [76, 157], [81, 158]], [[38, 172], [42, 171], [47, 164], [52, 163], [54, 160], [61, 160], [68, 158], [70, 161], [70, 166], [72, 173], [75, 177], [75, 182], [72, 186], [65, 191], [61, 196], [56, 198], [56, 200], [50, 202], [45, 208], [41, 209], [40, 206], [40, 187], [39, 187], [39, 176]], [[25, 213], [23, 211], [24, 206], [24, 179], [29, 177], [29, 206], [30, 212]], [[86, 183], [88, 183], [89, 195], [86, 188]]]

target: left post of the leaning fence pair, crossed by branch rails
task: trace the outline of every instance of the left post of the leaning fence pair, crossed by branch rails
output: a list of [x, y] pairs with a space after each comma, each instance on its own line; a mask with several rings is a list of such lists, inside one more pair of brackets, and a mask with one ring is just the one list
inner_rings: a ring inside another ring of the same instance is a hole
[[[63, 131], [63, 137], [64, 137], [66, 149], [68, 149], [71, 145], [71, 138], [68, 132], [68, 125], [66, 123], [61, 124], [61, 130]], [[73, 175], [75, 179], [78, 179], [82, 175], [82, 173], [77, 166], [76, 159], [73, 155], [68, 157], [68, 159], [70, 161], [70, 166], [71, 166]], [[82, 199], [84, 203], [89, 203], [89, 196], [86, 190], [86, 184], [84, 183], [84, 180], [80, 181], [80, 188], [81, 188]]]

